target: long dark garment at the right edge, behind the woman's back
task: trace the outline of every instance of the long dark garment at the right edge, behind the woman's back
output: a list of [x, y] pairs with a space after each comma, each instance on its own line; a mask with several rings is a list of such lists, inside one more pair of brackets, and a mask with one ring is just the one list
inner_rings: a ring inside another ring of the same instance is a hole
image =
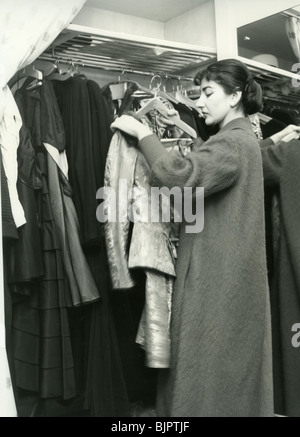
[[[279, 235], [273, 234], [274, 270], [270, 282], [275, 413], [300, 416], [300, 357], [292, 344], [299, 305], [299, 168], [300, 142], [262, 143], [265, 183], [279, 187]], [[275, 228], [275, 231], [277, 226]]]

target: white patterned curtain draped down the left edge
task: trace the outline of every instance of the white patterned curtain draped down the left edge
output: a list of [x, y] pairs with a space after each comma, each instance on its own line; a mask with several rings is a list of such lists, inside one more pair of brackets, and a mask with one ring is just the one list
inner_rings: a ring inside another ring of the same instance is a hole
[[[31, 64], [70, 24], [86, 0], [0, 0], [0, 143], [3, 164], [16, 190], [20, 115], [7, 86], [15, 73]], [[11, 192], [10, 192], [11, 193]], [[25, 223], [15, 205], [17, 226]], [[1, 204], [0, 204], [1, 205]], [[2, 241], [2, 226], [0, 226]], [[3, 252], [0, 245], [0, 417], [17, 416], [5, 348]]]

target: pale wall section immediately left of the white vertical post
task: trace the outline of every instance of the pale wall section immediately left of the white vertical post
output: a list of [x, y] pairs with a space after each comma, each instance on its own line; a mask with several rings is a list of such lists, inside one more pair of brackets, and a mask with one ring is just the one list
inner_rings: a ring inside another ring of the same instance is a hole
[[214, 1], [165, 23], [165, 38], [204, 47], [217, 47]]

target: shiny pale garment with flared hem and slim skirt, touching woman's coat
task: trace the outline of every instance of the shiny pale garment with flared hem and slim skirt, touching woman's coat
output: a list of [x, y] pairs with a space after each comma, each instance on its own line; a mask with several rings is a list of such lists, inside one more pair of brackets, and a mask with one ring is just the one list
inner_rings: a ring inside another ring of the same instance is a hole
[[[190, 152], [191, 141], [166, 141], [168, 152], [178, 150], [185, 156]], [[170, 364], [170, 318], [175, 278], [179, 223], [174, 222], [172, 203], [167, 206], [170, 219], [165, 223], [150, 222], [156, 214], [161, 217], [162, 203], [152, 202], [151, 174], [144, 156], [139, 153], [134, 174], [134, 210], [141, 214], [131, 230], [128, 268], [131, 272], [142, 268], [146, 274], [145, 307], [142, 313], [136, 342], [146, 351], [145, 364], [152, 368], [167, 368]], [[147, 193], [145, 201], [144, 194]], [[149, 213], [150, 214], [150, 213]]]

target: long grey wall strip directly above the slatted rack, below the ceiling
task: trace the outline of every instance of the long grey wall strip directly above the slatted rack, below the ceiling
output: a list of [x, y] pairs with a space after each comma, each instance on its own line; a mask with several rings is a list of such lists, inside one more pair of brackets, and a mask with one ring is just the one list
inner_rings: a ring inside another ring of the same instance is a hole
[[72, 23], [129, 35], [164, 38], [164, 23], [88, 6], [81, 9]]

